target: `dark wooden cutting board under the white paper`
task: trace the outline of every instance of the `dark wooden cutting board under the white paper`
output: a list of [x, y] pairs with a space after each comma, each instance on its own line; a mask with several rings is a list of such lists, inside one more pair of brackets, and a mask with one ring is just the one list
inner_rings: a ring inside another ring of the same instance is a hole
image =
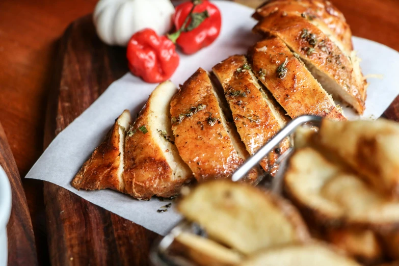
[[[128, 71], [125, 49], [103, 44], [91, 16], [69, 26], [59, 51], [48, 102], [45, 147]], [[398, 114], [396, 99], [385, 116], [397, 121]], [[48, 182], [44, 201], [52, 265], [149, 264], [149, 249], [157, 234]]]

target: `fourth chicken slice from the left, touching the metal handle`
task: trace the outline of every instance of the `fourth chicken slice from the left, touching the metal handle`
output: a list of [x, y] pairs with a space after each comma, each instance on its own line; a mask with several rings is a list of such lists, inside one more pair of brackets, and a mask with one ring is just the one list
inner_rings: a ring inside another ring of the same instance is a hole
[[[258, 84], [245, 56], [231, 56], [217, 64], [213, 71], [222, 84], [225, 97], [233, 114], [238, 134], [247, 151], [253, 155], [267, 143], [287, 122], [281, 107]], [[286, 139], [277, 153], [289, 148]], [[275, 172], [278, 157], [272, 152], [260, 165], [267, 172]]]

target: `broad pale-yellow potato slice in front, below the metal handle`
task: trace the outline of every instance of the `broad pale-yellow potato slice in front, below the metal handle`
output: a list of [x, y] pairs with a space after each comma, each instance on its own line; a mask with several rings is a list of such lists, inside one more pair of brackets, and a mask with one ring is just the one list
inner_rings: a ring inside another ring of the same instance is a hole
[[263, 248], [307, 241], [297, 210], [277, 196], [227, 180], [198, 185], [178, 204], [185, 218], [210, 238], [251, 254]]

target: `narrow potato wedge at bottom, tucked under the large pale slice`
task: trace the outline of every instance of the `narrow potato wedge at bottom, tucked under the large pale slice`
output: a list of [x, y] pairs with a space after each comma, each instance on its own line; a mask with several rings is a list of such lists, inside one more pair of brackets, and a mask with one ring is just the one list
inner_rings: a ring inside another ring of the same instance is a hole
[[176, 253], [200, 266], [233, 266], [242, 261], [242, 255], [215, 241], [191, 233], [176, 236]]

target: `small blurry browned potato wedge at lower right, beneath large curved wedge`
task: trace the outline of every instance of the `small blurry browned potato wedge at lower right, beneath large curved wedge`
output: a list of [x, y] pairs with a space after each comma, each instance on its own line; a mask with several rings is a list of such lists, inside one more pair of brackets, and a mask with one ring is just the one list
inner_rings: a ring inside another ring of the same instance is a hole
[[383, 247], [371, 230], [328, 229], [326, 240], [367, 265], [381, 262], [384, 258]]

